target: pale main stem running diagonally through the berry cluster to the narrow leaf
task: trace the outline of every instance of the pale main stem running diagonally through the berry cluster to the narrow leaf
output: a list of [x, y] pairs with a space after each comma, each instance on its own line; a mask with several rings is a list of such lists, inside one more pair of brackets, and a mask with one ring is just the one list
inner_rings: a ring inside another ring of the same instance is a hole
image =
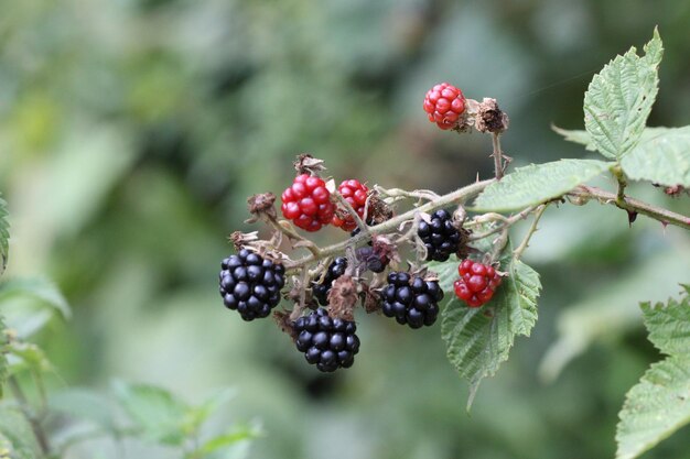
[[[422, 206], [419, 206], [414, 209], [408, 210], [405, 214], [401, 214], [397, 217], [391, 218], [390, 220], [386, 220], [382, 223], [376, 225], [374, 227], [369, 227], [368, 231], [375, 234], [385, 234], [398, 229], [398, 227], [407, 221], [414, 219], [414, 215], [419, 212], [433, 212], [434, 210], [441, 209], [443, 207], [448, 207], [451, 205], [457, 205], [466, 201], [467, 199], [472, 199], [477, 196], [479, 193], [484, 190], [488, 185], [496, 182], [495, 178], [489, 178], [482, 182], [475, 182], [465, 187], [459, 188], [453, 193], [449, 193], [448, 195], [440, 196], [436, 200], [427, 203]], [[297, 260], [292, 263], [285, 263], [285, 269], [288, 272], [294, 271], [301, 266], [313, 263], [316, 260], [320, 260], [324, 256], [333, 255], [335, 253], [339, 253], [345, 250], [347, 245], [359, 247], [364, 245], [367, 241], [368, 236], [365, 233], [359, 233], [353, 238], [349, 238], [343, 242], [338, 242], [336, 244], [327, 245], [321, 248], [319, 253], [311, 253], [300, 260]]]

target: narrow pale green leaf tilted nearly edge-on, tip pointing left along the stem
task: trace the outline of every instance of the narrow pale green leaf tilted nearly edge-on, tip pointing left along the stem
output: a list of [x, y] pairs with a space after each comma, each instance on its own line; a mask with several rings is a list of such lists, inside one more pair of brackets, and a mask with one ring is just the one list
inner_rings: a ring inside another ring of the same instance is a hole
[[518, 167], [487, 186], [472, 210], [500, 212], [536, 206], [562, 196], [612, 165], [596, 160], [560, 160]]

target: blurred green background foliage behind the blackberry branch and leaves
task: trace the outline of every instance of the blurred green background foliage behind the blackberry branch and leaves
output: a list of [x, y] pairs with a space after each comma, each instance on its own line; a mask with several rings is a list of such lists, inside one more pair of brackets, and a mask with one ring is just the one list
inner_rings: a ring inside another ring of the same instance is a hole
[[[385, 187], [445, 193], [488, 177], [489, 139], [428, 122], [422, 99], [440, 81], [498, 99], [514, 164], [583, 157], [550, 124], [582, 129], [592, 75], [658, 25], [649, 123], [690, 123], [690, 1], [0, 0], [0, 11], [7, 276], [47, 276], [74, 309], [32, 337], [57, 369], [51, 391], [118, 379], [196, 402], [230, 386], [216, 422], [261, 423], [252, 458], [613, 457], [625, 392], [659, 359], [638, 302], [690, 282], [680, 229], [644, 217], [628, 228], [596, 204], [549, 209], [526, 255], [542, 276], [539, 321], [471, 416], [439, 324], [411, 332], [360, 315], [356, 364], [323, 375], [271, 321], [226, 310], [217, 272], [226, 237], [258, 229], [242, 222], [246, 198], [281, 193], [298, 153], [337, 181]], [[648, 184], [630, 193], [690, 211]], [[688, 458], [687, 438], [648, 457]]]

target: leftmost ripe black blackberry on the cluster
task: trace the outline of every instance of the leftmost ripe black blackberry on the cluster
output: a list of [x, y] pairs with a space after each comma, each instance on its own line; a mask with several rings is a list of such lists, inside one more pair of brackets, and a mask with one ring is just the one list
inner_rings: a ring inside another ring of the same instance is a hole
[[280, 303], [285, 269], [247, 249], [220, 263], [219, 292], [228, 309], [249, 321], [271, 314]]

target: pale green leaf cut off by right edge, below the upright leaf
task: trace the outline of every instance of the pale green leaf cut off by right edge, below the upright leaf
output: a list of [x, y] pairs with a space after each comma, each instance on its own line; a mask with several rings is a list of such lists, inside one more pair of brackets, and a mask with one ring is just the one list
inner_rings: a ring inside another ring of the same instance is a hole
[[649, 130], [621, 166], [635, 181], [690, 187], [690, 127]]

